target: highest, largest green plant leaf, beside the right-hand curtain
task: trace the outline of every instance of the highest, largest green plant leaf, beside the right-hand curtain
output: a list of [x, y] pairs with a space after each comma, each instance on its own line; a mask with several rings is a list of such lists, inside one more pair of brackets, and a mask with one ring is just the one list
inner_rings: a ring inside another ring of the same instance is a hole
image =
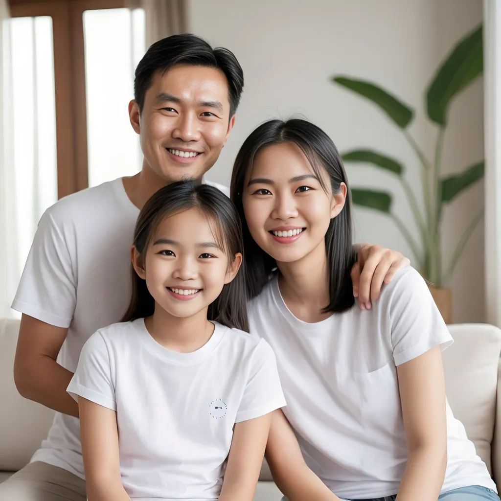
[[483, 70], [482, 27], [461, 40], [449, 54], [431, 82], [426, 95], [428, 116], [445, 125], [452, 98]]

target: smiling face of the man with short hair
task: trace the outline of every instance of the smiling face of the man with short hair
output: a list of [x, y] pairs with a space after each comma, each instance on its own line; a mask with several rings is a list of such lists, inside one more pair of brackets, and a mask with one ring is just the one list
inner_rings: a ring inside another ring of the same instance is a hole
[[146, 91], [142, 113], [129, 104], [134, 130], [140, 134], [144, 167], [166, 183], [201, 179], [226, 142], [229, 94], [222, 71], [180, 65], [157, 72]]

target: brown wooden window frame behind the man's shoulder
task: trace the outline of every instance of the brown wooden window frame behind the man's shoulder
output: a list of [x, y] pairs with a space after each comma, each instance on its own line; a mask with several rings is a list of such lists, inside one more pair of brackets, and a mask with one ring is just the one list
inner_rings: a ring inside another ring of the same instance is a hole
[[58, 198], [89, 186], [83, 14], [123, 7], [124, 0], [10, 1], [13, 18], [52, 18]]

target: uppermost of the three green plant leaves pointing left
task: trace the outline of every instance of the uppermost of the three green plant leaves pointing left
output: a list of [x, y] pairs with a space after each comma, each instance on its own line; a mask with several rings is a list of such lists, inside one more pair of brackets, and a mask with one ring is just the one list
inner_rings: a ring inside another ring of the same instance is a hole
[[332, 81], [360, 94], [377, 104], [402, 129], [412, 120], [414, 112], [385, 90], [364, 80], [354, 80], [349, 77], [336, 76]]

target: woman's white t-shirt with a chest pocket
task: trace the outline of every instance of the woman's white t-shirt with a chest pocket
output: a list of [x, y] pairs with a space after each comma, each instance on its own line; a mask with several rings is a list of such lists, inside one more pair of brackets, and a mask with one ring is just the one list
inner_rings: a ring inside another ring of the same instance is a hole
[[[275, 351], [284, 413], [312, 470], [339, 497], [396, 494], [407, 461], [396, 366], [452, 342], [420, 275], [401, 270], [371, 310], [355, 305], [314, 324], [291, 313], [274, 278], [249, 315], [251, 333]], [[448, 404], [447, 435], [442, 492], [495, 490]]]

